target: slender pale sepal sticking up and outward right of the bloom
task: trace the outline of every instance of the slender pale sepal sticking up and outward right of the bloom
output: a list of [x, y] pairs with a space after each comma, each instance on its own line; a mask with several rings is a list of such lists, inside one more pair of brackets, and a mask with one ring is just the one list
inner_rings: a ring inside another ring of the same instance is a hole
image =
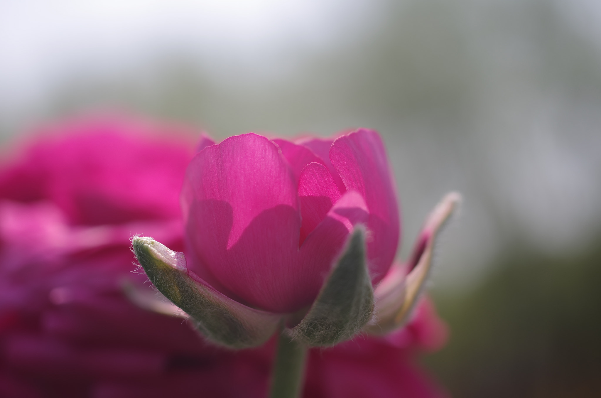
[[409, 263], [409, 267], [412, 267], [409, 274], [406, 274], [406, 269], [402, 266], [393, 265], [376, 287], [374, 322], [367, 325], [365, 331], [371, 334], [386, 334], [401, 328], [409, 320], [432, 270], [436, 237], [460, 200], [459, 194], [451, 192], [432, 210], [415, 245]]

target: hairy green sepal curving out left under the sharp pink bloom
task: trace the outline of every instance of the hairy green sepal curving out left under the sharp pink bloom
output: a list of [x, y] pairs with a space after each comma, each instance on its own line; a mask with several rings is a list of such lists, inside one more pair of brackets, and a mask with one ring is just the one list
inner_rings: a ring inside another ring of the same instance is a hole
[[134, 237], [133, 252], [160, 293], [181, 308], [209, 340], [234, 349], [260, 346], [273, 335], [280, 316], [255, 310], [194, 281], [183, 253], [150, 237]]

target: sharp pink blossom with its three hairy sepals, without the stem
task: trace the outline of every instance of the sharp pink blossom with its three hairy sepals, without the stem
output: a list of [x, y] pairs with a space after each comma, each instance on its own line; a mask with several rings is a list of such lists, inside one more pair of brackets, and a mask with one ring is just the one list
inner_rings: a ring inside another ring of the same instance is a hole
[[243, 348], [283, 323], [295, 341], [331, 346], [406, 322], [457, 194], [430, 215], [412, 260], [391, 268], [400, 220], [377, 132], [294, 142], [248, 133], [219, 144], [204, 135], [198, 150], [181, 197], [187, 253], [139, 234], [132, 246], [199, 331]]

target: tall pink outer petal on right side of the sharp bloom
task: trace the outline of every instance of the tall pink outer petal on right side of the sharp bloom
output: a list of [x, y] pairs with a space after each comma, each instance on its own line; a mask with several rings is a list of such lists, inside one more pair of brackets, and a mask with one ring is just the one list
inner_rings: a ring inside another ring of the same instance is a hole
[[346, 189], [358, 191], [369, 209], [368, 229], [373, 234], [367, 245], [373, 283], [390, 267], [400, 237], [397, 195], [386, 150], [377, 132], [359, 129], [337, 138], [330, 159]]

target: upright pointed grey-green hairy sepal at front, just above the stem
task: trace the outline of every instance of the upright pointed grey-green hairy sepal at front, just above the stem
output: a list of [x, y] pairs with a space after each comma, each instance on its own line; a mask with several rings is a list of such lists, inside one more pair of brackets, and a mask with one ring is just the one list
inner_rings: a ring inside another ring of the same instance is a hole
[[356, 227], [326, 279], [313, 306], [291, 329], [291, 335], [310, 346], [332, 346], [347, 340], [367, 324], [374, 295], [365, 259], [365, 230]]

